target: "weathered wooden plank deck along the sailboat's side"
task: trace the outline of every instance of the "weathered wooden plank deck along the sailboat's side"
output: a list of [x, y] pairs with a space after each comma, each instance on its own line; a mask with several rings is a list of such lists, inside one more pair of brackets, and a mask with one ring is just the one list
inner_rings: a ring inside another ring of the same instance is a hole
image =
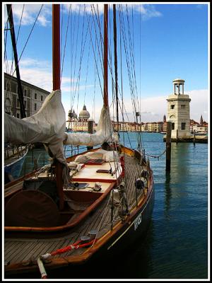
[[[131, 204], [135, 201], [135, 178], [137, 176], [138, 160], [136, 158], [131, 158], [127, 155], [125, 156], [125, 158], [125, 175], [128, 176], [127, 178], [125, 178], [127, 187], [126, 194], [129, 200], [130, 208]], [[11, 190], [18, 190], [18, 188], [22, 185], [23, 182], [17, 183], [16, 185], [13, 185]], [[8, 190], [6, 190], [5, 193], [8, 194]], [[138, 194], [141, 196], [143, 193], [138, 192]], [[110, 230], [111, 212], [110, 205], [107, 205], [109, 198], [110, 195], [108, 195], [105, 200], [102, 201], [102, 204], [97, 207], [95, 212], [90, 214], [90, 216], [88, 216], [82, 224], [76, 226], [66, 236], [62, 236], [60, 238], [39, 239], [4, 238], [4, 265], [7, 266], [10, 264], [26, 262], [30, 260], [35, 263], [35, 260], [37, 260], [40, 255], [44, 255], [45, 253], [51, 253], [52, 251], [57, 250], [59, 248], [69, 246], [70, 244], [73, 244], [78, 241], [81, 236], [88, 235], [89, 231], [99, 231], [100, 226], [104, 226], [104, 229], [102, 229], [100, 233], [98, 233], [98, 236], [100, 236], [101, 233], [105, 233], [106, 230]], [[105, 211], [104, 208], [106, 205], [107, 209]], [[67, 255], [71, 255], [73, 253], [83, 253], [83, 248], [78, 250], [69, 250], [66, 253], [62, 253], [61, 255], [55, 255], [54, 257], [66, 258]]]

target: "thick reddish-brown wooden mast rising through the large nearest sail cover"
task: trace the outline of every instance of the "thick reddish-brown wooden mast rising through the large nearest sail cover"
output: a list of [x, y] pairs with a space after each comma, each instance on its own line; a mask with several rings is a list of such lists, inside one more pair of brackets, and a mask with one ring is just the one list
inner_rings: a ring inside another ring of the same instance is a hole
[[[53, 91], [60, 89], [60, 5], [52, 4], [52, 73]], [[62, 164], [56, 160], [56, 182], [59, 195], [59, 209], [64, 208]]]

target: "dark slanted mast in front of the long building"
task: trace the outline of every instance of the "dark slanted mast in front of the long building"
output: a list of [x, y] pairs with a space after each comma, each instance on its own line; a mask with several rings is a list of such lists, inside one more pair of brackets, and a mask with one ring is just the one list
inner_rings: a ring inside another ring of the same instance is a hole
[[14, 54], [14, 59], [15, 59], [15, 64], [16, 64], [16, 77], [17, 77], [17, 82], [18, 82], [18, 99], [20, 101], [20, 117], [21, 119], [25, 118], [25, 107], [23, 103], [23, 89], [21, 86], [20, 82], [20, 72], [19, 72], [19, 67], [18, 67], [18, 54], [17, 54], [17, 49], [16, 49], [16, 35], [15, 35], [15, 29], [14, 29], [14, 24], [13, 24], [13, 11], [12, 11], [12, 5], [11, 4], [6, 4], [7, 8], [7, 13], [8, 13], [8, 21], [10, 23], [10, 30], [11, 30], [11, 41], [13, 45], [13, 54]]

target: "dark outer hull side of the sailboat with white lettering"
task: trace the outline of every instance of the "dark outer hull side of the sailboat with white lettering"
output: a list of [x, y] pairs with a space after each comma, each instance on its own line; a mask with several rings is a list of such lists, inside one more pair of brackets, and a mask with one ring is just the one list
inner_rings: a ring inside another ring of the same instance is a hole
[[[119, 227], [111, 235], [108, 235], [105, 240], [102, 240], [99, 246], [96, 246], [88, 256], [83, 255], [77, 258], [66, 256], [46, 263], [45, 270], [47, 275], [52, 278], [60, 278], [59, 274], [61, 272], [70, 270], [71, 278], [83, 278], [81, 275], [82, 270], [89, 270], [94, 265], [102, 265], [114, 257], [117, 258], [119, 253], [123, 253], [124, 249], [134, 248], [134, 243], [139, 239], [142, 240], [146, 234], [151, 221], [154, 198], [155, 192], [153, 189], [148, 201], [138, 207], [124, 224], [119, 224]], [[16, 265], [12, 269], [6, 268], [5, 270], [6, 278], [39, 278], [39, 276], [39, 270], [36, 265], [25, 267]]]

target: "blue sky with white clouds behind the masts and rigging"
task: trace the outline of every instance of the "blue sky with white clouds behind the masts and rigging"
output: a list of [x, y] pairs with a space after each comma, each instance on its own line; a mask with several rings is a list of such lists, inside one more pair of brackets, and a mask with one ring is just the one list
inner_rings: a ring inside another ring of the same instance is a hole
[[[142, 122], [162, 121], [163, 115], [167, 115], [166, 98], [172, 94], [172, 81], [181, 78], [185, 81], [184, 93], [192, 99], [190, 118], [199, 122], [202, 115], [208, 121], [208, 2], [119, 4], [122, 3], [117, 4], [117, 69], [119, 91], [126, 110], [124, 119], [135, 120], [132, 96], [138, 101], [136, 110], [141, 113]], [[6, 3], [2, 5], [6, 28]], [[18, 36], [20, 78], [52, 91], [52, 4], [21, 2], [12, 7]], [[61, 4], [61, 93], [66, 117], [71, 108], [78, 114], [86, 104], [90, 117], [98, 122], [102, 108], [102, 11], [100, 4], [98, 8], [96, 4], [91, 7], [88, 4]], [[109, 76], [112, 69], [114, 77], [112, 5], [108, 33], [109, 60], [112, 57]], [[10, 35], [6, 36], [6, 32], [3, 35], [4, 71], [11, 74]], [[113, 118], [111, 84], [109, 78]]]

